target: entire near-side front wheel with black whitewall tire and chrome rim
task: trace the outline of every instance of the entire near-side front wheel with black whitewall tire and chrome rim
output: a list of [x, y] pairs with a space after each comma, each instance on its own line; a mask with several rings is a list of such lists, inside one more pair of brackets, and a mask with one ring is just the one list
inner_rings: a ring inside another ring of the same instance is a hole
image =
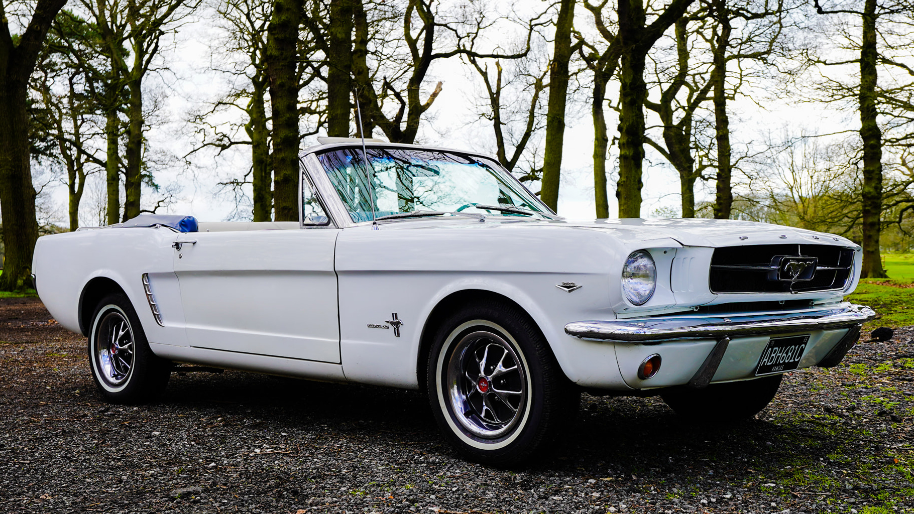
[[441, 323], [427, 377], [441, 432], [483, 464], [541, 456], [579, 404], [533, 320], [497, 301], [458, 309]]

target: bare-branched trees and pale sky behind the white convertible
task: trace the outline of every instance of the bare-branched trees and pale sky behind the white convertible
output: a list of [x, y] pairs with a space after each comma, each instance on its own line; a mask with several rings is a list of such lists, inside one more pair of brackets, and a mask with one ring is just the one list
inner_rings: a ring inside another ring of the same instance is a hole
[[560, 215], [908, 251], [908, 0], [0, 0], [0, 289], [39, 234], [297, 218], [319, 135], [489, 152]]

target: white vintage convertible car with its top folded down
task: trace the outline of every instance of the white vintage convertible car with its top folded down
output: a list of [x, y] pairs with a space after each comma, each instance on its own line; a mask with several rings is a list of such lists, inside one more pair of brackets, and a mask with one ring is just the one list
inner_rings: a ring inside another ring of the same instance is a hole
[[560, 435], [581, 391], [750, 417], [875, 316], [843, 300], [861, 261], [844, 237], [569, 222], [473, 152], [327, 138], [301, 196], [299, 222], [141, 215], [41, 237], [38, 294], [89, 338], [101, 393], [148, 399], [175, 363], [420, 389], [464, 456], [506, 464]]

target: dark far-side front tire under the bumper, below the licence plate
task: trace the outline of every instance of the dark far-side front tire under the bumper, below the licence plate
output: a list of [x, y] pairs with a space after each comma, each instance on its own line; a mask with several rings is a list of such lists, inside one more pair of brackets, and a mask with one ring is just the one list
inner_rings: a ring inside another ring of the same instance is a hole
[[783, 375], [742, 382], [712, 383], [705, 389], [661, 393], [676, 414], [696, 423], [735, 423], [764, 409], [781, 387]]

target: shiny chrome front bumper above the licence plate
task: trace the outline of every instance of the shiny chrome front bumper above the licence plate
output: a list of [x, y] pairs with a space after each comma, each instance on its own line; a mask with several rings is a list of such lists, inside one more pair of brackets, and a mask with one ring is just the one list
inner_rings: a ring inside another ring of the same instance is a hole
[[648, 318], [640, 320], [575, 321], [565, 332], [593, 341], [643, 342], [721, 339], [805, 330], [848, 329], [876, 318], [864, 305], [777, 314], [715, 317]]

